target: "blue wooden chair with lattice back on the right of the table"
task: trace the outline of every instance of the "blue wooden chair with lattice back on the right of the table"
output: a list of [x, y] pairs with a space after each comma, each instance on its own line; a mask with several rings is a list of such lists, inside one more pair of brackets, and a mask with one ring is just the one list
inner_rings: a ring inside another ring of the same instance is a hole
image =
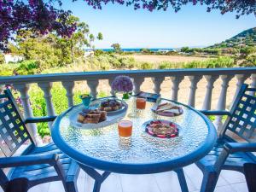
[[212, 151], [196, 162], [203, 172], [201, 192], [212, 192], [221, 170], [244, 173], [244, 163], [255, 163], [256, 89], [241, 85], [230, 112], [201, 111], [206, 115], [228, 115]]

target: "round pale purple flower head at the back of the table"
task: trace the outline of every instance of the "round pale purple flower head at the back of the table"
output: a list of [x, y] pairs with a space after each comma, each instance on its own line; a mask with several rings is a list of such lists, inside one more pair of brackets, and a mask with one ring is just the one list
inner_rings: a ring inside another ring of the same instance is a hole
[[123, 93], [123, 99], [128, 99], [131, 96], [131, 92], [133, 90], [131, 78], [125, 75], [117, 76], [115, 79], [113, 79], [111, 89], [115, 93]]

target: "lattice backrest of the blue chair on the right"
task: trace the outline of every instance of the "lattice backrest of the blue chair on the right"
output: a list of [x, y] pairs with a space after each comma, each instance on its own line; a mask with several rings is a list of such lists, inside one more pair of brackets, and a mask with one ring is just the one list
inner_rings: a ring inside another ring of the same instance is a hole
[[224, 123], [221, 137], [225, 136], [227, 131], [232, 131], [248, 143], [255, 143], [256, 89], [248, 88], [247, 84], [242, 84], [230, 113], [231, 116]]

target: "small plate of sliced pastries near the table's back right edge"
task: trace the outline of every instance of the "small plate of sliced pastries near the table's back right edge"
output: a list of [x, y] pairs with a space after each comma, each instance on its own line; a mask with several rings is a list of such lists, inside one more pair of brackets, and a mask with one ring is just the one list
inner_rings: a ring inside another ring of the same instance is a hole
[[183, 108], [171, 102], [162, 102], [160, 104], [154, 105], [154, 107], [151, 109], [154, 113], [166, 117], [173, 117], [183, 113]]

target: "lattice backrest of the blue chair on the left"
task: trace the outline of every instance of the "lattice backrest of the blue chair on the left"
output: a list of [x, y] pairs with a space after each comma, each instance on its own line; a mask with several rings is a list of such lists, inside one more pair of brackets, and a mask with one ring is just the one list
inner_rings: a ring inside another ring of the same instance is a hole
[[4, 102], [0, 104], [0, 148], [5, 156], [11, 156], [27, 140], [32, 142], [32, 138], [10, 90], [4, 90], [1, 96]]

